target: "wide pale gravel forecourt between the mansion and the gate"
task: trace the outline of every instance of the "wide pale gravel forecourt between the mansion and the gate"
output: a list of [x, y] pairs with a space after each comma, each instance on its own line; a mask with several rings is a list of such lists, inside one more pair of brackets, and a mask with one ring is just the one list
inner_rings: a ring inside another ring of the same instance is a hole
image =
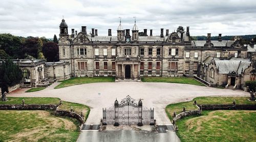
[[24, 93], [26, 89], [23, 89], [8, 96], [58, 97], [64, 101], [86, 104], [91, 107], [86, 124], [99, 124], [102, 118], [102, 107], [110, 107], [116, 98], [120, 101], [126, 95], [130, 95], [136, 101], [141, 98], [144, 106], [155, 108], [155, 119], [158, 125], [171, 124], [165, 113], [165, 106], [170, 103], [189, 101], [199, 96], [249, 96], [249, 93], [242, 90], [233, 91], [178, 83], [101, 82], [53, 89], [57, 84], [59, 82], [38, 92]]

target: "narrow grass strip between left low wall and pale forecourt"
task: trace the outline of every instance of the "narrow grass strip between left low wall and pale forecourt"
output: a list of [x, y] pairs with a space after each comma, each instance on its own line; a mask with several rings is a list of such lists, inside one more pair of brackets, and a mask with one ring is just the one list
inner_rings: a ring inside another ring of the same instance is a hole
[[[59, 104], [59, 98], [40, 98], [40, 97], [7, 97], [8, 101], [3, 102], [0, 101], [0, 104], [22, 104], [22, 100], [25, 100], [25, 104]], [[87, 119], [90, 108], [83, 104], [78, 103], [71, 103], [62, 101], [62, 105], [59, 106], [59, 109], [63, 110], [70, 110], [71, 106], [73, 107], [73, 110], [77, 113], [83, 112], [84, 120]]]

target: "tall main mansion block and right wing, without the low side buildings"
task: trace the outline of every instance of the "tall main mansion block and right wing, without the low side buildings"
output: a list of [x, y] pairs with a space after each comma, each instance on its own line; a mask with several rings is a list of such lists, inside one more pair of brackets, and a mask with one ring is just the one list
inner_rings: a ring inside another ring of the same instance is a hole
[[[72, 29], [69, 35], [68, 25], [62, 19], [59, 29], [59, 59], [70, 63], [71, 76], [76, 77], [116, 76], [116, 80], [120, 80], [185, 74], [198, 76], [209, 84], [222, 85], [228, 81], [220, 83], [206, 77], [208, 67], [204, 61], [209, 57], [228, 62], [231, 58], [249, 59], [255, 51], [251, 45], [243, 45], [240, 38], [222, 40], [221, 34], [217, 41], [211, 41], [211, 34], [206, 41], [191, 41], [188, 26], [186, 32], [166, 30], [164, 34], [161, 29], [159, 36], [153, 36], [150, 30], [148, 36], [147, 29], [139, 32], [136, 21], [131, 34], [130, 29], [123, 29], [120, 21], [116, 36], [112, 36], [111, 29], [108, 36], [98, 36], [97, 29], [88, 34], [86, 26], [81, 26], [79, 33]], [[252, 48], [250, 54], [248, 46]]]

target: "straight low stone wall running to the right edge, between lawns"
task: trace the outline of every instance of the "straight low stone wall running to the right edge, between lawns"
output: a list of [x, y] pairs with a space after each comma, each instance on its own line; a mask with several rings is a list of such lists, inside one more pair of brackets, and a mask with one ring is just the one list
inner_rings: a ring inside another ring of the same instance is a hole
[[[200, 104], [198, 104], [200, 105]], [[202, 110], [256, 110], [256, 104], [201, 104]]]

